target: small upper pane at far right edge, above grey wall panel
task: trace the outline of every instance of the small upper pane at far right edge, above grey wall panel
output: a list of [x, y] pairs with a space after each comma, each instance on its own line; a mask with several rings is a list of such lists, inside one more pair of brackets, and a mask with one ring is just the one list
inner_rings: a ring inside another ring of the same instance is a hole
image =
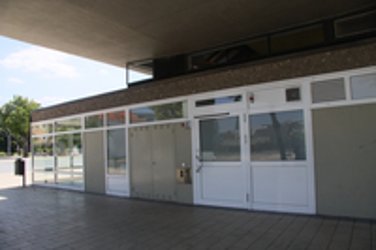
[[376, 97], [376, 74], [365, 74], [350, 78], [352, 99]]

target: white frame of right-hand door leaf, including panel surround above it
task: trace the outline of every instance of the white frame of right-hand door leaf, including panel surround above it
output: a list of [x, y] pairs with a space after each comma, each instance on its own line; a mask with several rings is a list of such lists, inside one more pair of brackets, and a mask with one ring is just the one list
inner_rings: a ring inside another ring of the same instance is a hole
[[[255, 176], [255, 169], [261, 169], [262, 167], [275, 167], [276, 171], [281, 171], [277, 166], [281, 168], [301, 168], [302, 166], [306, 169], [306, 205], [298, 206], [293, 204], [278, 204], [278, 203], [260, 203], [253, 197], [254, 192], [257, 192], [255, 186], [252, 186], [253, 190], [250, 189], [252, 195], [252, 208], [256, 210], [269, 210], [269, 211], [280, 211], [280, 212], [297, 212], [297, 213], [308, 213], [314, 214], [316, 212], [316, 199], [315, 199], [315, 176], [314, 176], [314, 162], [313, 162], [313, 138], [312, 138], [312, 119], [311, 119], [311, 109], [310, 109], [310, 81], [305, 80], [286, 80], [280, 81], [273, 84], [257, 85], [252, 86], [247, 89], [248, 93], [254, 95], [254, 102], [249, 103], [247, 120], [249, 128], [249, 117], [250, 115], [270, 113], [270, 112], [283, 112], [292, 110], [302, 110], [303, 111], [303, 121], [304, 121], [304, 134], [305, 134], [305, 147], [306, 147], [306, 160], [304, 161], [276, 161], [276, 162], [250, 162], [251, 169], [251, 183], [255, 184], [256, 179], [259, 176]], [[298, 87], [300, 88], [300, 101], [286, 102], [284, 100], [284, 91], [287, 88]], [[265, 91], [263, 94], [262, 92]], [[270, 92], [269, 92], [270, 91]], [[258, 95], [260, 93], [260, 95]], [[260, 104], [257, 104], [257, 99], [265, 98]], [[283, 101], [282, 101], [283, 100]], [[249, 131], [248, 131], [249, 132]], [[249, 135], [251, 140], [251, 137]], [[250, 142], [251, 144], [251, 142]], [[250, 152], [250, 150], [249, 150]], [[249, 154], [252, 158], [251, 153]]]

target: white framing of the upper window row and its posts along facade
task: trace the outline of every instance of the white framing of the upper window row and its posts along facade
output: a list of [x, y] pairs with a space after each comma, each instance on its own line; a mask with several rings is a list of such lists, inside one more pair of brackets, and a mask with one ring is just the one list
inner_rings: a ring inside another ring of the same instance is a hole
[[[44, 123], [52, 123], [53, 131], [52, 133], [43, 134], [43, 135], [32, 135], [32, 138], [38, 137], [38, 136], [52, 136], [53, 137], [53, 143], [55, 145], [55, 136], [57, 135], [63, 135], [63, 134], [72, 134], [72, 133], [81, 133], [81, 138], [83, 138], [84, 132], [89, 131], [97, 131], [97, 130], [104, 130], [104, 136], [107, 137], [107, 131], [111, 129], [118, 129], [118, 128], [124, 128], [125, 129], [125, 136], [126, 136], [126, 158], [127, 158], [127, 169], [126, 169], [126, 175], [127, 180], [129, 183], [129, 170], [131, 168], [130, 162], [129, 162], [129, 136], [128, 136], [128, 129], [132, 127], [141, 127], [141, 126], [149, 126], [149, 125], [157, 125], [157, 124], [168, 124], [168, 123], [176, 123], [176, 122], [189, 122], [192, 123], [195, 119], [195, 116], [198, 115], [210, 115], [213, 113], [223, 113], [223, 112], [244, 112], [246, 115], [246, 127], [249, 128], [249, 114], [257, 114], [257, 113], [265, 113], [265, 112], [278, 112], [278, 111], [289, 111], [289, 110], [298, 110], [302, 109], [304, 111], [304, 123], [305, 123], [305, 139], [306, 139], [306, 157], [307, 162], [309, 164], [309, 171], [312, 178], [309, 180], [309, 185], [313, 187], [312, 190], [310, 190], [310, 195], [312, 197], [315, 197], [315, 175], [314, 175], [314, 149], [313, 149], [313, 134], [312, 134], [312, 111], [316, 109], [322, 109], [322, 108], [331, 108], [331, 107], [344, 107], [344, 106], [352, 106], [352, 105], [361, 105], [361, 104], [369, 104], [369, 103], [376, 103], [376, 97], [375, 98], [368, 98], [368, 99], [357, 99], [353, 100], [351, 99], [351, 89], [350, 89], [350, 77], [354, 75], [362, 75], [362, 74], [371, 74], [376, 73], [376, 66], [370, 66], [370, 67], [363, 67], [359, 69], [352, 69], [352, 70], [344, 70], [344, 71], [338, 71], [338, 72], [331, 72], [331, 73], [325, 73], [325, 74], [318, 74], [313, 76], [304, 76], [299, 78], [293, 78], [288, 80], [282, 80], [282, 81], [273, 81], [268, 83], [260, 83], [260, 84], [254, 84], [254, 85], [248, 85], [248, 86], [242, 86], [242, 87], [235, 87], [235, 88], [229, 88], [229, 89], [223, 89], [218, 91], [210, 91], [210, 92], [204, 92], [199, 94], [192, 94], [192, 95], [185, 95], [185, 96], [179, 96], [174, 98], [167, 98], [163, 100], [155, 100], [155, 101], [149, 101], [149, 102], [143, 102], [133, 105], [123, 105], [118, 106], [115, 108], [109, 108], [109, 109], [102, 109], [97, 110], [93, 112], [86, 112], [81, 114], [75, 114], [70, 116], [64, 116], [54, 119], [47, 119], [43, 121], [38, 122], [32, 122], [31, 125], [37, 125], [37, 124], [44, 124]], [[345, 100], [341, 101], [330, 101], [330, 102], [322, 102], [322, 103], [312, 103], [312, 96], [311, 96], [311, 83], [314, 81], [325, 81], [330, 80], [333, 78], [341, 78], [343, 77], [345, 80]], [[301, 93], [301, 100], [300, 101], [291, 101], [287, 102], [283, 105], [266, 105], [264, 107], [252, 107], [251, 104], [249, 104], [249, 93], [259, 91], [259, 90], [266, 90], [266, 89], [274, 89], [274, 88], [292, 88], [292, 87], [299, 87], [300, 93]], [[202, 106], [202, 107], [196, 107], [195, 102], [203, 99], [210, 99], [210, 98], [218, 98], [218, 97], [224, 97], [224, 96], [232, 96], [232, 95], [242, 95], [242, 101], [241, 102], [235, 102], [231, 104], [223, 104], [223, 105], [212, 105], [212, 106]], [[147, 106], [154, 106], [154, 105], [162, 105], [162, 104], [168, 104], [173, 102], [186, 102], [187, 103], [187, 117], [182, 119], [171, 119], [171, 120], [162, 120], [162, 121], [154, 121], [154, 122], [142, 122], [142, 123], [135, 123], [130, 124], [129, 114], [130, 110], [134, 108], [140, 108], [140, 107], [147, 107]], [[250, 111], [251, 109], [251, 111]], [[122, 125], [116, 125], [116, 126], [107, 126], [107, 113], [110, 112], [118, 112], [118, 111], [124, 111], [125, 112], [125, 124]], [[85, 129], [84, 126], [84, 117], [91, 115], [91, 114], [103, 114], [104, 115], [104, 126], [102, 128], [94, 128], [94, 129]], [[55, 122], [71, 119], [71, 118], [80, 118], [81, 119], [81, 129], [80, 130], [72, 130], [72, 131], [64, 131], [64, 132], [56, 132], [55, 129]], [[249, 131], [248, 129], [245, 130], [245, 136], [249, 137]], [[197, 138], [197, 131], [194, 131], [192, 129], [191, 133], [191, 139], [192, 139], [192, 145], [196, 145], [196, 138]], [[105, 152], [105, 161], [104, 164], [105, 173], [106, 173], [106, 181], [107, 181], [107, 139], [104, 140], [106, 150]], [[33, 146], [32, 146], [33, 147]], [[84, 150], [84, 145], [82, 145]], [[249, 147], [249, 143], [247, 145]], [[248, 151], [249, 152], [249, 151]], [[56, 155], [55, 152], [55, 146], [54, 146], [54, 156]], [[192, 162], [195, 161], [194, 158], [195, 155], [195, 148], [192, 146]], [[56, 163], [55, 163], [56, 165]], [[85, 165], [85, 163], [84, 163]], [[55, 166], [56, 167], [56, 166]], [[84, 166], [85, 169], [85, 166]], [[33, 174], [34, 174], [34, 168], [33, 168]], [[34, 178], [34, 177], [33, 177]], [[34, 181], [34, 179], [33, 179]], [[193, 179], [193, 182], [195, 180]], [[49, 185], [46, 185], [49, 186]], [[57, 187], [52, 185], [53, 187]], [[107, 187], [107, 182], [106, 182]], [[67, 187], [64, 186], [64, 189], [67, 189]], [[128, 187], [129, 190], [129, 187]], [[250, 190], [250, 189], [249, 189]], [[313, 199], [312, 201], [312, 212], [315, 212], [316, 207], [316, 200]], [[249, 207], [252, 209], [252, 207]]]

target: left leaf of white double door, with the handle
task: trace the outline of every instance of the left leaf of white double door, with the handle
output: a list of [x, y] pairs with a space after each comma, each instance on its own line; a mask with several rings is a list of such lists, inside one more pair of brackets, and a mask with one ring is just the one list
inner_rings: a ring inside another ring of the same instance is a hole
[[195, 203], [248, 207], [244, 123], [240, 114], [195, 119]]

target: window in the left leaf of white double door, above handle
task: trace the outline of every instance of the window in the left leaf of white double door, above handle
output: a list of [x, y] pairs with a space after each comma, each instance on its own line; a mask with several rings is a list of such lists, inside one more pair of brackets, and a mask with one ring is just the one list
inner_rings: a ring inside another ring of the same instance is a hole
[[202, 161], [240, 161], [239, 118], [200, 121]]

